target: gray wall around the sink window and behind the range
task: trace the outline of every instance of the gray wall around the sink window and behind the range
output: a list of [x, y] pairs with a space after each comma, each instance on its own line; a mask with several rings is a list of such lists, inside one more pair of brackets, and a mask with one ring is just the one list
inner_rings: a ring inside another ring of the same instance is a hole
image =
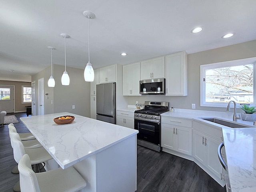
[[226, 111], [226, 108], [200, 107], [200, 65], [251, 57], [256, 57], [256, 40], [188, 54], [188, 96], [127, 96], [128, 104], [154, 100], [170, 102], [174, 108], [191, 109], [191, 104], [195, 103], [197, 110]]

